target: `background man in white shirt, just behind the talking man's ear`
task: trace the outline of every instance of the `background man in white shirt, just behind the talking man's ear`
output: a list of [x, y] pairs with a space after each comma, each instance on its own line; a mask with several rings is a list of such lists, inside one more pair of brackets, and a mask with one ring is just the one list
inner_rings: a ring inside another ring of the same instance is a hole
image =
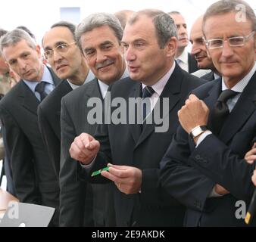
[[175, 54], [176, 61], [183, 70], [188, 73], [194, 73], [198, 70], [198, 64], [195, 57], [186, 51], [186, 47], [189, 45], [189, 34], [186, 26], [186, 21], [182, 14], [178, 11], [171, 11], [170, 17], [173, 18], [177, 30], [178, 30], [178, 48]]

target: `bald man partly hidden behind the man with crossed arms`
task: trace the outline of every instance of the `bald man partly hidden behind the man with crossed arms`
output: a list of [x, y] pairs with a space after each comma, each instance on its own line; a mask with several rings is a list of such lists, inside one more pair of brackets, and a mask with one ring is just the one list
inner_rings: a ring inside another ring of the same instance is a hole
[[[197, 61], [198, 68], [200, 70], [192, 73], [192, 75], [198, 76], [201, 79], [212, 81], [220, 77], [217, 69], [211, 60], [210, 55], [207, 52], [207, 48], [204, 42], [204, 34], [202, 30], [203, 16], [198, 17], [193, 23], [189, 40], [192, 44], [191, 54], [195, 57]], [[211, 70], [211, 72], [204, 74], [204, 70]], [[200, 73], [203, 73], [200, 75]]]

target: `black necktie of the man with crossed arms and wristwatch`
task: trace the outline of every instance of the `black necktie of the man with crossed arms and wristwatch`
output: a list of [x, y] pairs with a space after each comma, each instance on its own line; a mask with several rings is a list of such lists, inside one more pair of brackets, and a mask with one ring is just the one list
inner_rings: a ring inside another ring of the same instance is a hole
[[229, 116], [229, 107], [227, 106], [226, 101], [228, 101], [230, 98], [235, 97], [237, 94], [238, 92], [234, 92], [229, 89], [224, 90], [220, 93], [220, 96], [214, 105], [214, 111], [212, 115], [212, 131], [215, 135], [219, 135], [227, 116]]

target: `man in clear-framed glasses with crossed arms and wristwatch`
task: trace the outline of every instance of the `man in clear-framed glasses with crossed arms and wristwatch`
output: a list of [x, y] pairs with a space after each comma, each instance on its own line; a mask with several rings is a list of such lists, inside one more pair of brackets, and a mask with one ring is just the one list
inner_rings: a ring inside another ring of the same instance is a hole
[[223, 77], [189, 96], [161, 161], [161, 182], [186, 205], [187, 226], [245, 225], [239, 201], [248, 205], [254, 191], [254, 167], [243, 158], [256, 131], [255, 29], [241, 0], [221, 0], [204, 14], [207, 50]]

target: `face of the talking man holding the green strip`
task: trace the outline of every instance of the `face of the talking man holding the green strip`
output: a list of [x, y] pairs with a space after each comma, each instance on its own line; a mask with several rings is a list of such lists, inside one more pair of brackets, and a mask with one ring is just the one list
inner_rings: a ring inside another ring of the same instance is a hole
[[147, 16], [126, 24], [122, 44], [130, 78], [145, 85], [154, 85], [173, 64], [176, 38], [160, 48], [154, 23]]

